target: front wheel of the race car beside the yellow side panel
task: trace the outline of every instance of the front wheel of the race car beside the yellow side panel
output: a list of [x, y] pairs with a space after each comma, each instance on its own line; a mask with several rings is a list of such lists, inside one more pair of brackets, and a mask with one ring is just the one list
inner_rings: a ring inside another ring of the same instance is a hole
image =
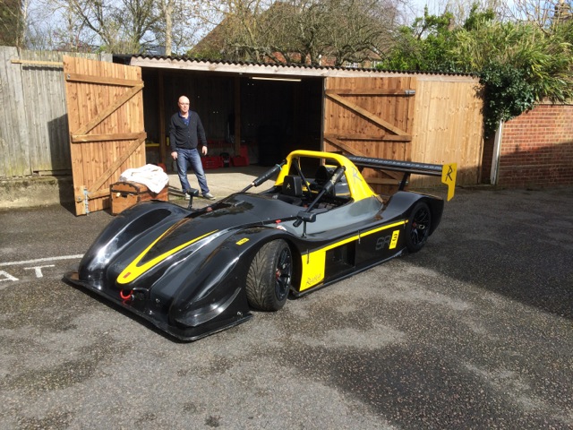
[[293, 279], [293, 255], [286, 242], [274, 240], [261, 247], [247, 274], [249, 305], [261, 311], [278, 311], [286, 303]]

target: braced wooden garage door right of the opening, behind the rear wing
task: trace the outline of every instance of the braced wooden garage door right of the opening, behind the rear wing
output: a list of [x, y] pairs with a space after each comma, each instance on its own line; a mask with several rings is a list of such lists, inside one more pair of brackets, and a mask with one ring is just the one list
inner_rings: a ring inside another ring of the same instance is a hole
[[[416, 80], [327, 78], [324, 150], [380, 159], [411, 160]], [[364, 169], [377, 193], [388, 192], [401, 175]]]

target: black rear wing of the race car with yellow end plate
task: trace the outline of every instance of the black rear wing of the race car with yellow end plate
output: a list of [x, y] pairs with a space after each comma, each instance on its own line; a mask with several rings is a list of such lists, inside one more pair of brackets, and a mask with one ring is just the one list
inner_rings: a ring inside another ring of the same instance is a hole
[[375, 170], [390, 170], [404, 173], [399, 190], [404, 190], [410, 175], [441, 176], [441, 182], [448, 185], [448, 201], [454, 197], [456, 187], [456, 174], [458, 165], [451, 164], [427, 164], [415, 163], [413, 161], [399, 161], [396, 159], [372, 159], [370, 157], [357, 157], [350, 155], [346, 157], [352, 161], [357, 168], [373, 168]]

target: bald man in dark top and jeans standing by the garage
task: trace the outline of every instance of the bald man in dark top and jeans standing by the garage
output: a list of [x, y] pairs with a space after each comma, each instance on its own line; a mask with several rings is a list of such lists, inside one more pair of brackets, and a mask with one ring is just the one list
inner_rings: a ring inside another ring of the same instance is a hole
[[171, 145], [171, 157], [177, 162], [177, 174], [185, 196], [192, 190], [187, 180], [187, 169], [191, 165], [197, 182], [201, 188], [203, 197], [215, 200], [213, 194], [209, 192], [207, 178], [201, 164], [201, 156], [197, 150], [199, 141], [202, 145], [203, 155], [207, 155], [207, 139], [205, 129], [201, 124], [201, 118], [197, 112], [189, 110], [189, 99], [181, 96], [178, 101], [179, 112], [171, 116], [169, 122], [169, 144]]

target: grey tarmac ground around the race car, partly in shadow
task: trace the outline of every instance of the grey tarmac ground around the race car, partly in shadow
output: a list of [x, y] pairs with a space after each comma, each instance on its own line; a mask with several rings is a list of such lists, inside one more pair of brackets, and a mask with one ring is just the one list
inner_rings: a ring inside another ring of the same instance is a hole
[[108, 211], [0, 211], [0, 428], [572, 429], [571, 208], [458, 187], [420, 252], [192, 343], [62, 280]]

